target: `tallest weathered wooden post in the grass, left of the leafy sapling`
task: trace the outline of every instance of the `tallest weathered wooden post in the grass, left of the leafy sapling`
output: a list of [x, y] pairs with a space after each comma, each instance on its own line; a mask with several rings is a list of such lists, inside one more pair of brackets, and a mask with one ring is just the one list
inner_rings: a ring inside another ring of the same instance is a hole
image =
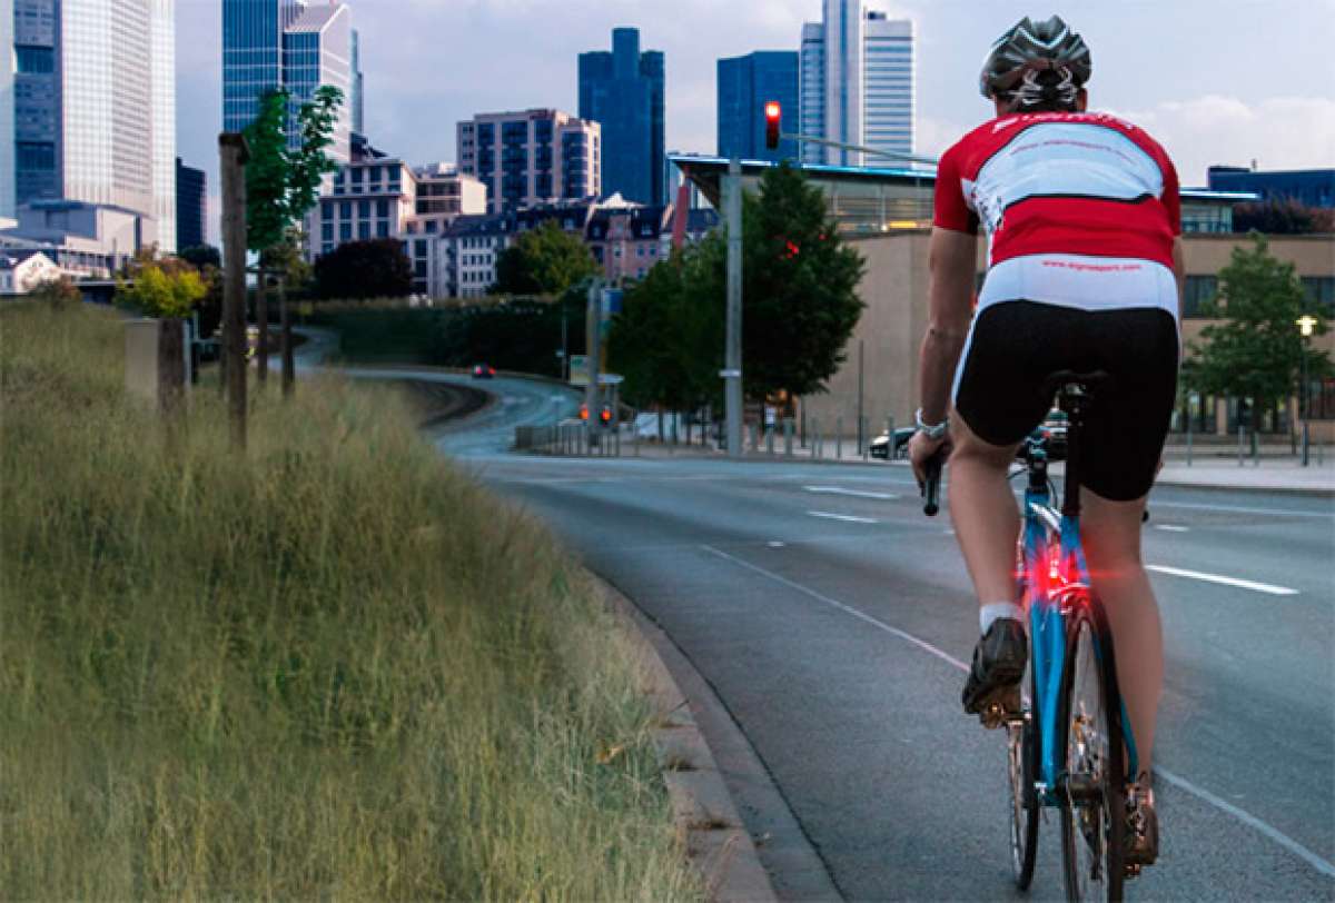
[[218, 136], [223, 181], [223, 332], [232, 444], [246, 447], [246, 139]]

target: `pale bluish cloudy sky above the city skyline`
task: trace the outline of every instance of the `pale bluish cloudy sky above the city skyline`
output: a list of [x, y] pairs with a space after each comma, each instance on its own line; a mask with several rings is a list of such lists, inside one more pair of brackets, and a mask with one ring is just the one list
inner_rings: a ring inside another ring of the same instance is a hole
[[[324, 0], [311, 0], [314, 4]], [[821, 0], [350, 0], [366, 131], [411, 164], [455, 159], [478, 112], [578, 109], [577, 57], [634, 25], [668, 67], [668, 148], [716, 151], [716, 61], [797, 49]], [[1184, 185], [1215, 163], [1335, 167], [1335, 0], [884, 0], [917, 25], [917, 152], [991, 116], [977, 76], [1020, 17], [1061, 15], [1089, 44], [1089, 105], [1144, 127]], [[222, 0], [178, 0], [178, 153], [208, 172], [216, 240]]]

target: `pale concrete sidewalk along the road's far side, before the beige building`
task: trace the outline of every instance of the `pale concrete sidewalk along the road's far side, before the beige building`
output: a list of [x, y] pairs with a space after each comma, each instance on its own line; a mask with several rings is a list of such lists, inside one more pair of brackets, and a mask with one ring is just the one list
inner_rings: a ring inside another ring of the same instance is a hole
[[[837, 448], [832, 439], [825, 439], [821, 444], [822, 448], [820, 451], [822, 454], [817, 455], [813, 448], [814, 443], [810, 439], [808, 440], [808, 447], [802, 448], [794, 437], [793, 454], [785, 455], [782, 439], [776, 437], [773, 455], [766, 451], [766, 444], [761, 441], [760, 451], [752, 451], [750, 445], [746, 445], [744, 460], [789, 462], [798, 464], [869, 463], [878, 467], [908, 467], [908, 462], [901, 460], [881, 462], [874, 458], [864, 459], [857, 452], [857, 443], [852, 439], [842, 443], [842, 448]], [[836, 451], [841, 451], [842, 455], [836, 456]], [[1163, 486], [1335, 495], [1335, 452], [1327, 454], [1328, 451], [1323, 451], [1322, 460], [1318, 463], [1316, 449], [1312, 448], [1310, 466], [1302, 467], [1296, 458], [1288, 455], [1287, 447], [1283, 449], [1279, 447], [1266, 447], [1256, 460], [1244, 458], [1243, 466], [1239, 467], [1236, 452], [1228, 451], [1223, 445], [1195, 448], [1189, 464], [1185, 458], [1185, 447], [1169, 445], [1164, 449], [1164, 468], [1156, 482]], [[625, 437], [622, 439], [621, 454], [623, 458], [637, 455], [639, 458], [665, 459], [684, 456], [705, 459], [726, 458], [726, 452], [718, 451], [713, 444], [661, 445], [658, 443], [639, 441], [637, 448], [635, 443]], [[1053, 474], [1061, 475], [1063, 468], [1060, 463], [1055, 464], [1052, 470]]]

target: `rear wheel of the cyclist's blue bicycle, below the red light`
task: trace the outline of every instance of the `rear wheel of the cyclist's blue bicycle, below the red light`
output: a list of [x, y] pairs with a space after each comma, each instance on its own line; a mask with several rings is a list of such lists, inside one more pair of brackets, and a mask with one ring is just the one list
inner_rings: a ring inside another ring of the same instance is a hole
[[[1057, 748], [1064, 751], [1061, 863], [1067, 899], [1120, 902], [1125, 880], [1125, 766], [1112, 635], [1097, 603], [1071, 615]], [[1080, 803], [1073, 779], [1088, 778]]]

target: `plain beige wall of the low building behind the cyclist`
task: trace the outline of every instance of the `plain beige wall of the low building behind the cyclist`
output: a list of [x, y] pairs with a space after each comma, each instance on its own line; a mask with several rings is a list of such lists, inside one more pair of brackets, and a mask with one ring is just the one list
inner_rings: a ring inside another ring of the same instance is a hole
[[[896, 425], [910, 425], [918, 404], [917, 356], [928, 315], [928, 241], [925, 229], [906, 229], [853, 240], [866, 259], [860, 295], [866, 303], [862, 319], [845, 348], [846, 360], [829, 381], [829, 392], [801, 400], [808, 428], [818, 421], [830, 435], [836, 417], [844, 417], [845, 436], [857, 432], [858, 343], [864, 343], [864, 413], [872, 435], [885, 428], [886, 416]], [[985, 241], [979, 241], [979, 272], [987, 265]], [[1184, 240], [1187, 272], [1214, 275], [1228, 265], [1234, 248], [1250, 247], [1240, 235], [1189, 235]], [[1335, 276], [1335, 236], [1271, 236], [1270, 249], [1292, 261], [1299, 276]], [[1184, 339], [1199, 337], [1210, 320], [1187, 320]], [[1296, 328], [1296, 327], [1295, 327]], [[1335, 329], [1312, 340], [1335, 356]], [[801, 416], [801, 415], [800, 415]], [[1335, 440], [1335, 421], [1312, 424], [1314, 437]]]

